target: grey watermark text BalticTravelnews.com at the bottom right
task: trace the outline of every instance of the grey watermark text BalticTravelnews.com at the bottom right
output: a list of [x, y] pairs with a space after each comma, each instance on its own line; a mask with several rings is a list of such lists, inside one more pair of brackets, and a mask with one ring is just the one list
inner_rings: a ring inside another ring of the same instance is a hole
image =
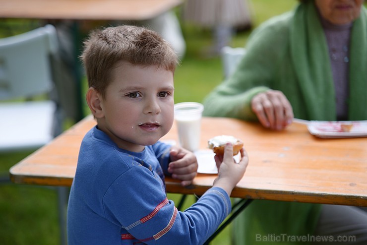
[[289, 235], [289, 234], [256, 234], [256, 242], [356, 242], [357, 238], [353, 235], [333, 236], [333, 235]]

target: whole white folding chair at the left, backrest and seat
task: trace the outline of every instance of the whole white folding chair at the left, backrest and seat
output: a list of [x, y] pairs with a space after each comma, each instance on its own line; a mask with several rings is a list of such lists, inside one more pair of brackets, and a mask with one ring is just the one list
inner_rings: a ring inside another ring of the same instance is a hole
[[50, 97], [50, 58], [57, 52], [52, 25], [0, 39], [0, 152], [37, 149], [60, 131]]

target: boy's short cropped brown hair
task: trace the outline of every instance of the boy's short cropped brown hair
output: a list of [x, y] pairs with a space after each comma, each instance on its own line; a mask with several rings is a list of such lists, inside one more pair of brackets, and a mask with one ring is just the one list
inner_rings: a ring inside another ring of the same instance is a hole
[[174, 72], [179, 62], [173, 47], [158, 33], [144, 27], [122, 25], [94, 30], [84, 42], [80, 56], [88, 86], [104, 97], [119, 61], [133, 65], [156, 65]]

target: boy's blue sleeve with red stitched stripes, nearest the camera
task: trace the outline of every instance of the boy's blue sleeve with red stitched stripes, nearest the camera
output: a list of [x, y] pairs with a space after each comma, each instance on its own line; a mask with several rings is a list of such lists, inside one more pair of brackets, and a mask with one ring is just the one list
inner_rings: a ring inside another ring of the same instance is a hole
[[123, 228], [122, 240], [160, 245], [203, 244], [231, 211], [229, 196], [218, 187], [178, 211], [149, 169], [140, 166], [110, 186], [103, 206], [105, 218]]

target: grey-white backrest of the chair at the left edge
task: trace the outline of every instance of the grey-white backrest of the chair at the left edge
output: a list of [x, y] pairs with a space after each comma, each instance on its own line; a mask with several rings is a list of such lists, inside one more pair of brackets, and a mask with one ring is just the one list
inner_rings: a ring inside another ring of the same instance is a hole
[[0, 100], [50, 92], [53, 82], [49, 58], [57, 51], [53, 25], [0, 39]]

